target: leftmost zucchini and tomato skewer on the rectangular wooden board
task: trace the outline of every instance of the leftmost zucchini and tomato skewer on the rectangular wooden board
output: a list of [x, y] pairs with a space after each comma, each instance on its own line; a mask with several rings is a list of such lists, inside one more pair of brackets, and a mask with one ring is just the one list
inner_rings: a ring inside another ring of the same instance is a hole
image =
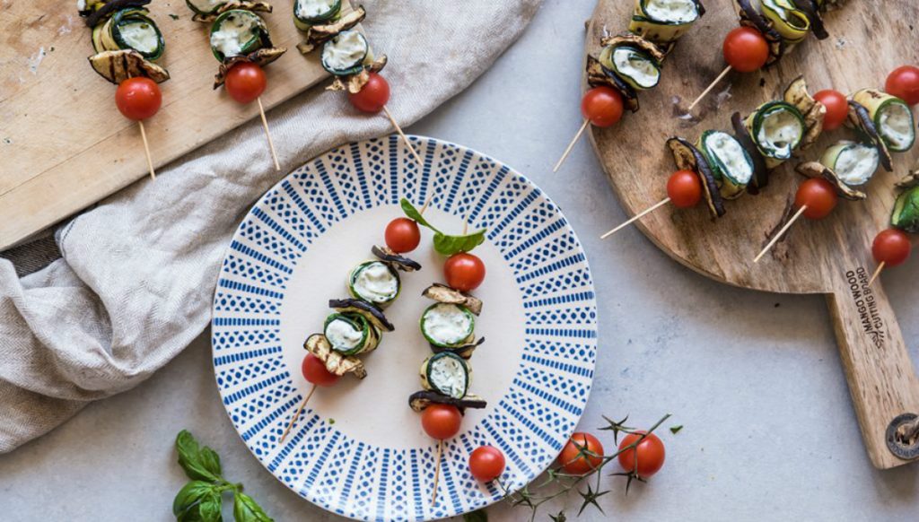
[[169, 73], [155, 62], [163, 57], [165, 38], [145, 6], [150, 0], [79, 0], [77, 10], [93, 31], [89, 64], [97, 74], [118, 85], [115, 105], [137, 121], [150, 177], [156, 178], [143, 120], [153, 118], [163, 104], [161, 84]]

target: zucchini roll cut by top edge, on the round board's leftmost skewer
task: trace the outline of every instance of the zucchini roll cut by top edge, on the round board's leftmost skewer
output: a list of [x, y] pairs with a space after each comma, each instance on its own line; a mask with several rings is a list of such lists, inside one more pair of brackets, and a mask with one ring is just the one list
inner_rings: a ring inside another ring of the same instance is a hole
[[656, 43], [672, 43], [703, 14], [696, 0], [636, 0], [629, 30]]

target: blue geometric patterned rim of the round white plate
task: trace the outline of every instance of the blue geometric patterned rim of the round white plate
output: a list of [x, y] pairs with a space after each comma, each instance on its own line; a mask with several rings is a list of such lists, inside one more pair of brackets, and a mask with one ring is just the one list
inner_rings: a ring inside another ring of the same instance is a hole
[[[471, 477], [472, 449], [501, 448], [505, 482], [522, 487], [562, 449], [584, 411], [596, 362], [596, 301], [584, 250], [562, 211], [526, 177], [459, 145], [411, 137], [419, 168], [397, 136], [339, 147], [271, 188], [233, 236], [214, 295], [213, 363], [227, 413], [268, 471], [316, 505], [360, 520], [456, 516], [500, 500]], [[304, 410], [283, 363], [278, 308], [301, 255], [335, 222], [360, 210], [416, 205], [488, 228], [524, 297], [526, 346], [510, 390], [492, 414], [446, 441], [437, 505], [435, 454], [347, 437]]]

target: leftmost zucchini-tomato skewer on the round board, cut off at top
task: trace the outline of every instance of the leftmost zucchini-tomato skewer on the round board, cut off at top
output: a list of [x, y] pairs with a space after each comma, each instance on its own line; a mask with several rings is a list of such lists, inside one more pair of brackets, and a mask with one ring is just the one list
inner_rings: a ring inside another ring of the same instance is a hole
[[587, 56], [587, 82], [592, 88], [581, 100], [584, 123], [552, 172], [562, 167], [588, 124], [611, 127], [622, 117], [623, 107], [638, 111], [638, 92], [660, 82], [664, 58], [704, 14], [699, 0], [635, 1], [629, 31], [604, 37], [599, 55]]

